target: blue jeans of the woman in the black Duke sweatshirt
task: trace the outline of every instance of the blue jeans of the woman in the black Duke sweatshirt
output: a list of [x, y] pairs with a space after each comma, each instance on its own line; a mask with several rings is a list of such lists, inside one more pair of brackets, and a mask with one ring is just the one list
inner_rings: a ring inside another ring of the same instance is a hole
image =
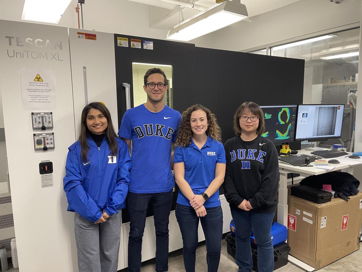
[[251, 255], [250, 235], [253, 228], [258, 245], [258, 271], [271, 272], [274, 269], [274, 250], [271, 242], [271, 225], [274, 213], [258, 214], [244, 210], [231, 209], [234, 219], [236, 237], [236, 264], [238, 272], [251, 272], [253, 259]]

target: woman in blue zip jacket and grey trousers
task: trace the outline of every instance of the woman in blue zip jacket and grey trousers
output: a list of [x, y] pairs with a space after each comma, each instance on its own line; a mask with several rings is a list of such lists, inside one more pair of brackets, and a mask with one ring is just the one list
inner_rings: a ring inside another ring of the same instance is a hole
[[102, 103], [84, 107], [79, 140], [68, 149], [63, 185], [75, 211], [79, 272], [116, 272], [131, 157]]

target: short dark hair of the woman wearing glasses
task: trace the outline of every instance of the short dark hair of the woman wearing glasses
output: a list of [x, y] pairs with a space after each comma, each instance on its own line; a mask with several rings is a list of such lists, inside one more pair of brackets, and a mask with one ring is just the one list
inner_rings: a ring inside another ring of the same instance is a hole
[[258, 125], [258, 128], [256, 129], [256, 134], [262, 135], [264, 133], [264, 129], [265, 129], [264, 113], [263, 113], [262, 109], [259, 107], [259, 105], [254, 102], [244, 102], [243, 104], [240, 105], [239, 108], [237, 108], [235, 115], [234, 115], [234, 132], [235, 132], [235, 134], [237, 136], [241, 135], [241, 127], [240, 127], [240, 123], [239, 123], [239, 118], [243, 112], [248, 112], [248, 111], [250, 111], [251, 114], [255, 114], [256, 116], [259, 117], [259, 125]]

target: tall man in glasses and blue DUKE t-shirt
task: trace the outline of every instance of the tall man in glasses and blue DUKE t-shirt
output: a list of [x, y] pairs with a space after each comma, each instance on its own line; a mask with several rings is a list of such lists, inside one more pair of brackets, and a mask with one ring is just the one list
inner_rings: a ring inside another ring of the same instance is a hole
[[141, 250], [148, 203], [153, 200], [156, 230], [156, 271], [168, 271], [168, 222], [174, 186], [172, 143], [176, 142], [181, 114], [163, 103], [167, 78], [159, 68], [144, 75], [147, 102], [123, 115], [119, 136], [130, 145], [132, 168], [127, 195], [130, 215], [128, 270], [141, 269]]

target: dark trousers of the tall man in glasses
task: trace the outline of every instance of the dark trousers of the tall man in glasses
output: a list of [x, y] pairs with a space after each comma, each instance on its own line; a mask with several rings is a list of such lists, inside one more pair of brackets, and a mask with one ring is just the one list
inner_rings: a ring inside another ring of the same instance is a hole
[[128, 239], [128, 271], [141, 270], [141, 250], [148, 203], [153, 200], [153, 219], [156, 230], [156, 271], [168, 270], [168, 222], [172, 191], [167, 193], [135, 194], [128, 192], [127, 208], [130, 214]]

